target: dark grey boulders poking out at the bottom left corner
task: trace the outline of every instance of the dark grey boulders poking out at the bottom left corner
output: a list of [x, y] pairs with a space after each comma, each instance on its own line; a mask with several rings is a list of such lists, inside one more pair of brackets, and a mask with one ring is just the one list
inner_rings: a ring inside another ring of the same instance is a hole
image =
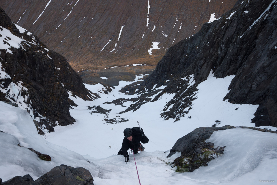
[[[1, 184], [1, 183], [0, 183]], [[56, 166], [48, 173], [45, 173], [37, 180], [28, 174], [23, 177], [16, 176], [6, 182], [2, 182], [3, 185], [93, 185], [93, 177], [90, 172], [85, 168], [74, 168], [67, 165]]]

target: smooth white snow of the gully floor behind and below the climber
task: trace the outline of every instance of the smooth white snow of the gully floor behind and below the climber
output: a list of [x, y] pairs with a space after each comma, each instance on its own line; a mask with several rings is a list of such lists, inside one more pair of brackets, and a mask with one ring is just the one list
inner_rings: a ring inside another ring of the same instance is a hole
[[[141, 77], [138, 76], [136, 81]], [[239, 105], [222, 101], [228, 93], [227, 89], [233, 78], [234, 76], [216, 78], [211, 73], [206, 81], [198, 85], [199, 91], [195, 95], [197, 99], [192, 101], [192, 110], [177, 122], [174, 122], [175, 119], [164, 121], [163, 118], [160, 118], [162, 109], [175, 94], [164, 94], [158, 101], [145, 103], [134, 112], [118, 114], [126, 110], [133, 102], [124, 103], [127, 107], [103, 103], [118, 98], [137, 97], [138, 95], [130, 96], [119, 92], [121, 87], [132, 82], [120, 81], [119, 86], [115, 86], [115, 89], [109, 95], [99, 93], [99, 91], [102, 92], [103, 88], [101, 84], [86, 84], [87, 89], [93, 93], [98, 93], [101, 98], [96, 101], [83, 101], [81, 98], [70, 96], [70, 99], [78, 105], [78, 107], [74, 107], [74, 110], [70, 110], [70, 114], [76, 119], [76, 123], [66, 127], [56, 127], [55, 132], [46, 134], [46, 139], [82, 155], [88, 154], [95, 158], [103, 158], [117, 154], [121, 148], [123, 130], [128, 127], [137, 127], [137, 121], [145, 131], [145, 135], [149, 137], [149, 143], [144, 145], [148, 152], [167, 151], [180, 137], [198, 127], [211, 127], [216, 123], [216, 120], [221, 122], [219, 127], [224, 125], [254, 127], [255, 124], [251, 123], [251, 119], [259, 105]], [[108, 116], [100, 113], [90, 113], [94, 110], [87, 110], [87, 106], [93, 107], [94, 105], [100, 105], [102, 108], [112, 109], [112, 111], [107, 113]], [[235, 110], [237, 107], [239, 109]], [[129, 121], [107, 124], [104, 121], [105, 118], [116, 118], [117, 120], [124, 118], [125, 120], [129, 119]], [[86, 142], [80, 143], [80, 140]]]

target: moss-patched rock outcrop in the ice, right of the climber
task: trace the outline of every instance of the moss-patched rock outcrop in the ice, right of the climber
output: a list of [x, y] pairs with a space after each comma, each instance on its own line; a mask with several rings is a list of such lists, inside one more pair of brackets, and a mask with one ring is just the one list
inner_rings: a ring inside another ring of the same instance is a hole
[[[217, 146], [214, 143], [206, 143], [205, 141], [211, 137], [214, 131], [233, 129], [230, 125], [224, 127], [200, 127], [181, 137], [176, 141], [167, 157], [172, 156], [176, 152], [181, 152], [181, 157], [173, 161], [173, 167], [177, 167], [176, 172], [191, 172], [200, 166], [207, 166], [207, 162], [215, 159], [224, 153], [225, 146]], [[266, 129], [257, 129], [253, 127], [240, 127], [242, 129], [252, 129], [262, 132], [276, 133]], [[171, 164], [171, 165], [172, 165]]]

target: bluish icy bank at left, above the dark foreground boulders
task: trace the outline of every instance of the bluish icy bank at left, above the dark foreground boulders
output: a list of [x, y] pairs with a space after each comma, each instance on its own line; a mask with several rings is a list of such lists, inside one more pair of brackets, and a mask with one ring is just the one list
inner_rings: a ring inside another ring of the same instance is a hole
[[[0, 101], [0, 178], [3, 182], [16, 175], [30, 174], [37, 179], [53, 167], [61, 164], [85, 167], [92, 170], [95, 165], [83, 156], [64, 147], [57, 146], [38, 135], [29, 113]], [[3, 133], [4, 132], [4, 133]], [[27, 148], [48, 154], [52, 161], [42, 161]]]

